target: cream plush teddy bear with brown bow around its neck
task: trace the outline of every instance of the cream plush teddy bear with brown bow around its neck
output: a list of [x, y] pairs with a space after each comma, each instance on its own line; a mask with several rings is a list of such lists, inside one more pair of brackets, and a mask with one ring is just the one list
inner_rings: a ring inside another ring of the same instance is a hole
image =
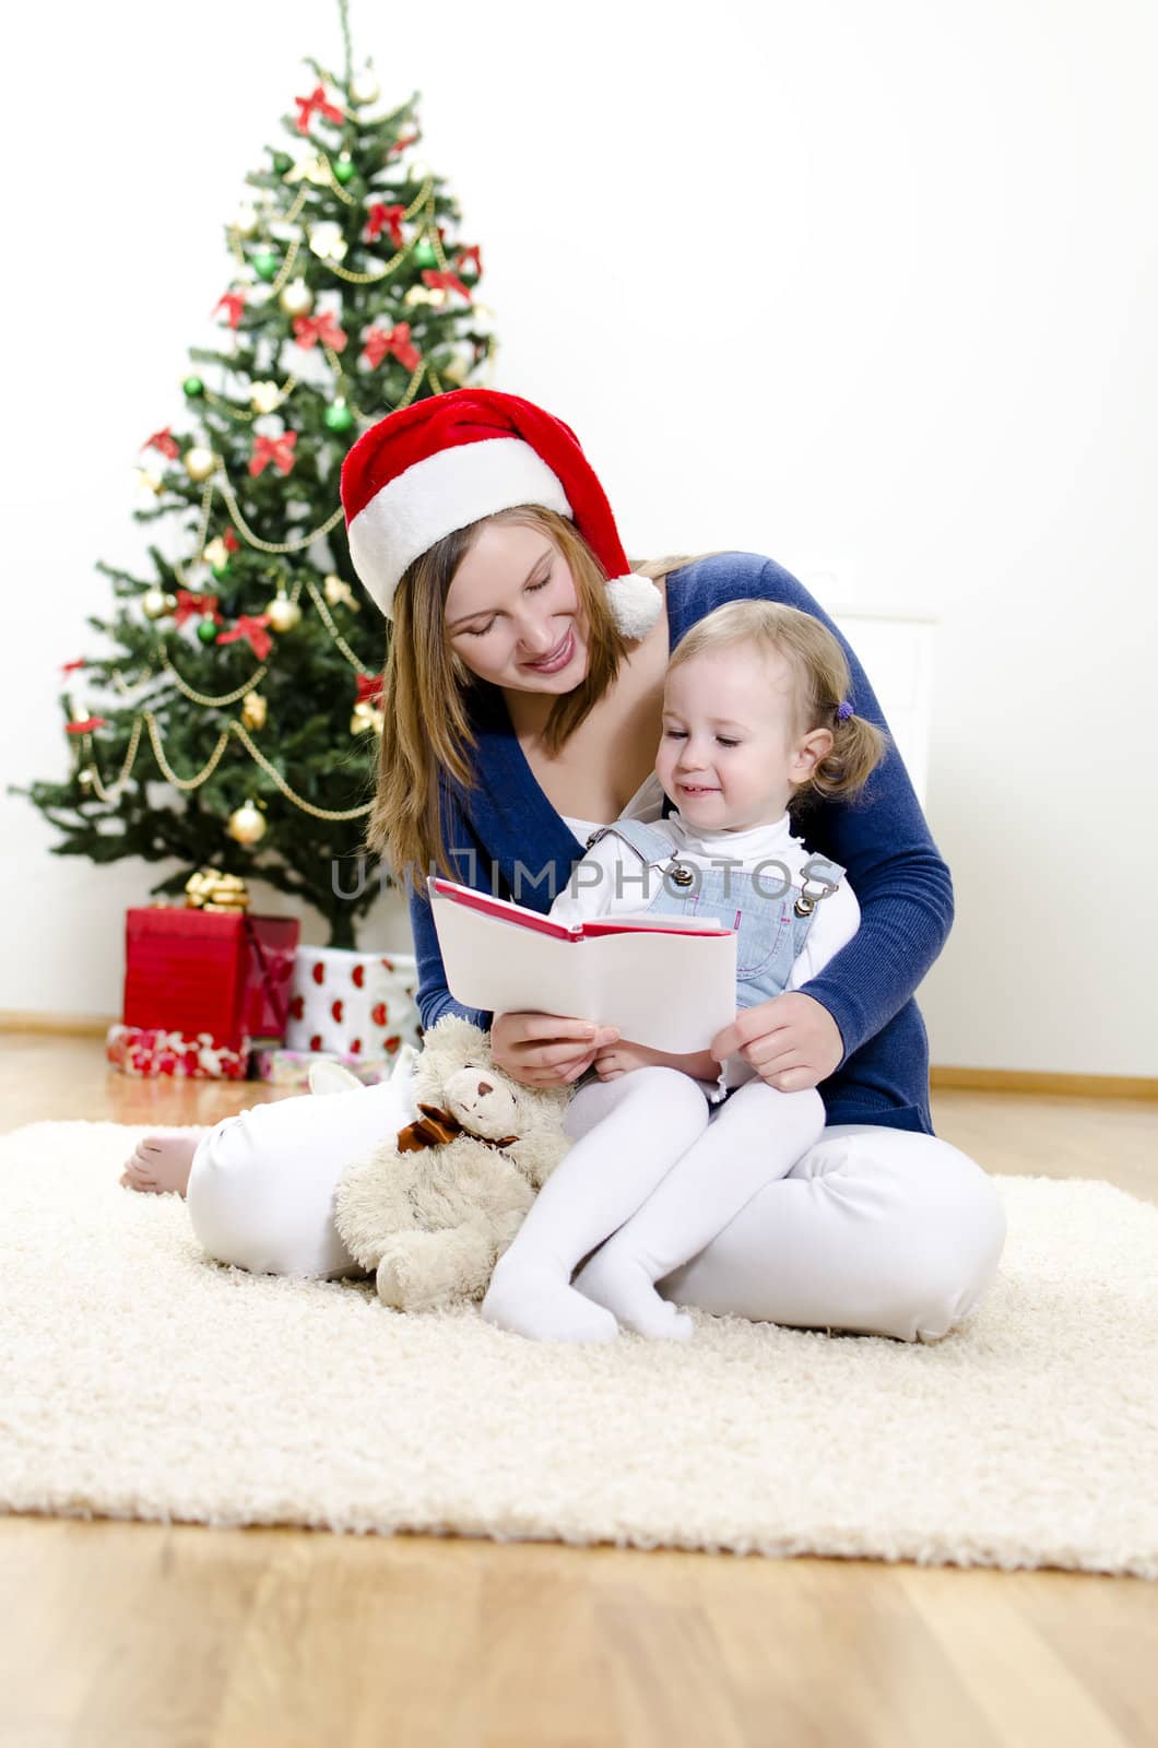
[[[346, 1166], [334, 1224], [359, 1267], [376, 1273], [383, 1304], [432, 1311], [486, 1294], [572, 1145], [572, 1087], [513, 1080], [495, 1068], [488, 1033], [458, 1014], [444, 1014], [392, 1079], [411, 1072], [416, 1120]], [[332, 1070], [311, 1089], [339, 1091]]]

